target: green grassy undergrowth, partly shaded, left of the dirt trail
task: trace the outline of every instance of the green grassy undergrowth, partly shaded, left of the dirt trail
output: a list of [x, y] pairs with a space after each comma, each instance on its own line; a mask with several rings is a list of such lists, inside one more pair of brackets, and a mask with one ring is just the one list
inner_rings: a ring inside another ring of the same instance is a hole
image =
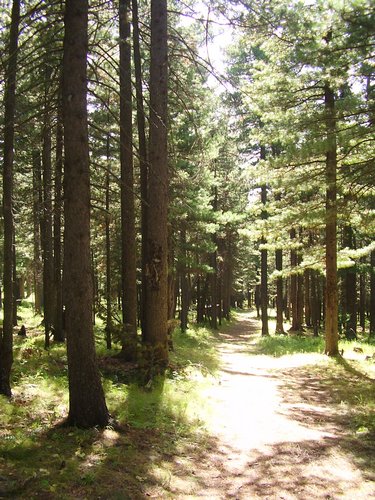
[[126, 367], [112, 364], [118, 346], [107, 351], [99, 325], [95, 333], [112, 417], [105, 430], [60, 425], [68, 413], [66, 346], [44, 350], [41, 328], [14, 336], [13, 398], [0, 397], [0, 498], [112, 498], [108, 491], [141, 498], [145, 481], [167, 474], [158, 465], [166, 454], [184, 452], [192, 436], [205, 446], [203, 394], [219, 368], [214, 334], [176, 332], [166, 375], [141, 386], [136, 374], [119, 375]]

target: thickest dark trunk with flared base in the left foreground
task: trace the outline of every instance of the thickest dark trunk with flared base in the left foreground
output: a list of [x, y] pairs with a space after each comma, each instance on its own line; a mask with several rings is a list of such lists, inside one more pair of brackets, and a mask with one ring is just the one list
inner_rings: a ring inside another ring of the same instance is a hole
[[69, 375], [68, 424], [78, 427], [105, 426], [108, 423], [92, 325], [87, 23], [87, 0], [67, 0], [63, 64], [63, 286]]

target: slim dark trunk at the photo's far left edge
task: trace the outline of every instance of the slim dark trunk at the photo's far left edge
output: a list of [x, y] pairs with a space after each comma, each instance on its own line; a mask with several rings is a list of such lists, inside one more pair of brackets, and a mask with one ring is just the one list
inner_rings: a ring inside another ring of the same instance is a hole
[[3, 136], [3, 217], [4, 217], [4, 320], [0, 331], [0, 394], [11, 396], [10, 373], [13, 364], [13, 157], [14, 116], [20, 2], [13, 0], [9, 35], [8, 66], [4, 92]]

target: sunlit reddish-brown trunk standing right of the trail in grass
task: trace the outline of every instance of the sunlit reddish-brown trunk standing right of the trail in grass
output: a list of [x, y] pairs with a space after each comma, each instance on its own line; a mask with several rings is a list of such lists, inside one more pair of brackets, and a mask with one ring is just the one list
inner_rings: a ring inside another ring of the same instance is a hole
[[332, 88], [326, 84], [324, 91], [327, 130], [326, 153], [326, 310], [325, 352], [336, 356], [338, 348], [338, 297], [337, 297], [337, 151], [335, 97]]

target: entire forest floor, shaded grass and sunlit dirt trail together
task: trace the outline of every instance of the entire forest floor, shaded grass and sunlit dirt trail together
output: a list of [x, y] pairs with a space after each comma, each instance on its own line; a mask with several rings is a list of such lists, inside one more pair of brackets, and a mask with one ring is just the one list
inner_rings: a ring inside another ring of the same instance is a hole
[[366, 362], [365, 347], [335, 360], [321, 339], [259, 330], [242, 312], [204, 339], [179, 333], [175, 368], [149, 390], [104, 357], [117, 423], [102, 431], [56, 426], [63, 347], [19, 341], [23, 374], [14, 400], [0, 401], [0, 498], [375, 498], [374, 348]]

